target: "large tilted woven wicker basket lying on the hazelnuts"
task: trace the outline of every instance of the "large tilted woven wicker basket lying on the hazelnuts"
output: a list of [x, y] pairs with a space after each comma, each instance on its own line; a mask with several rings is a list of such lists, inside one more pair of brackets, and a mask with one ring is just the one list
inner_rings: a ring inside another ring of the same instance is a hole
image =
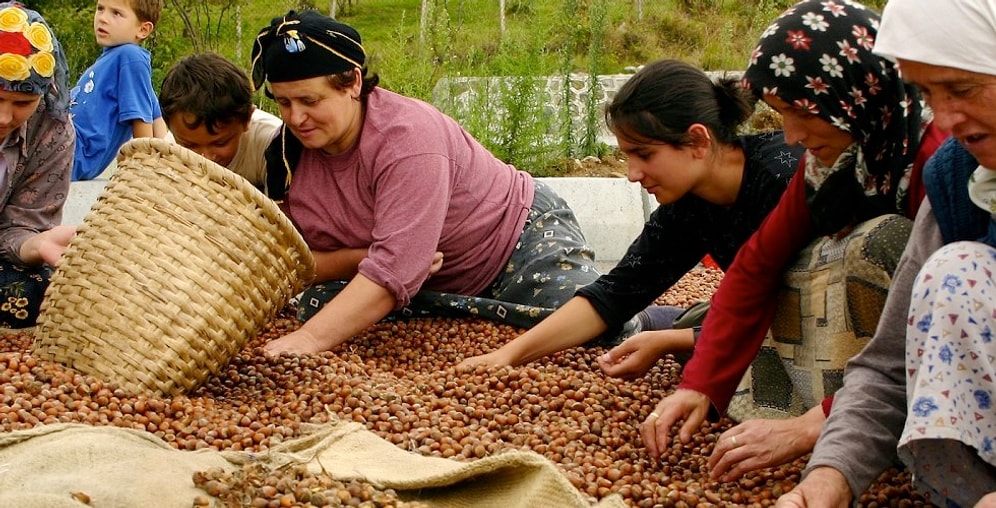
[[190, 391], [314, 273], [290, 220], [245, 179], [132, 140], [52, 275], [34, 354], [135, 393]]

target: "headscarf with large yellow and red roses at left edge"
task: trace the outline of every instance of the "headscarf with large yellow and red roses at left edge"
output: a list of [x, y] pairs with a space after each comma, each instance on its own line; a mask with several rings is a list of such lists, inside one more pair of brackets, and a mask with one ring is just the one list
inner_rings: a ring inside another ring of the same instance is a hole
[[42, 95], [50, 115], [69, 109], [62, 46], [37, 12], [16, 2], [0, 3], [0, 89]]

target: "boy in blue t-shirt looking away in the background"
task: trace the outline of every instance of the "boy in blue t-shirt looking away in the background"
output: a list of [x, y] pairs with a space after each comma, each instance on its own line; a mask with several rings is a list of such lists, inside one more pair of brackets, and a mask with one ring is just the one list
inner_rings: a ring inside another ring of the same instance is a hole
[[104, 51], [70, 91], [76, 154], [73, 180], [90, 180], [132, 137], [163, 137], [152, 88], [152, 55], [141, 46], [162, 13], [162, 0], [97, 0], [93, 31]]

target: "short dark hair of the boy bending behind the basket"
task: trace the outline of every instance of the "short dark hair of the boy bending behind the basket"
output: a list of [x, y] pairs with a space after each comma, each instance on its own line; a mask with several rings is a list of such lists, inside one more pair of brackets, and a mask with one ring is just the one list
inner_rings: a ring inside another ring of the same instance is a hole
[[163, 120], [189, 113], [194, 120], [184, 122], [187, 128], [204, 125], [211, 134], [233, 120], [248, 122], [252, 105], [249, 77], [217, 53], [198, 53], [176, 62], [159, 90]]

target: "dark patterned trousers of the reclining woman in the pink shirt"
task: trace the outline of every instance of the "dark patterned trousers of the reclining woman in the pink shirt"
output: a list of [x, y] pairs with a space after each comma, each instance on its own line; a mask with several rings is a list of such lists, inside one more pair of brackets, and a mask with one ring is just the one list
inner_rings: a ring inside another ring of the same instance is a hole
[[[428, 316], [474, 316], [529, 328], [598, 278], [595, 254], [585, 241], [574, 211], [546, 184], [536, 193], [519, 242], [491, 286], [479, 295], [419, 291], [408, 306], [387, 319]], [[308, 288], [301, 296], [298, 319], [307, 321], [334, 298], [347, 281]]]

